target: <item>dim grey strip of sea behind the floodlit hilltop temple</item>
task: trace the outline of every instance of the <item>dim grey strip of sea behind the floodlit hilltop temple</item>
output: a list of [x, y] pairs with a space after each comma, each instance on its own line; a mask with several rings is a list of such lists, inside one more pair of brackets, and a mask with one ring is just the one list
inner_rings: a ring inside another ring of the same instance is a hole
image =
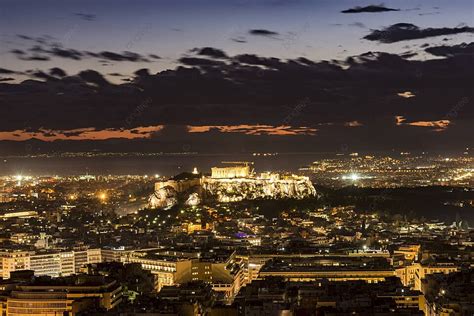
[[162, 154], [156, 156], [94, 156], [94, 157], [5, 157], [0, 160], [0, 176], [66, 176], [66, 175], [155, 175], [173, 176], [180, 172], [207, 173], [222, 162], [254, 162], [257, 172], [289, 171], [313, 161], [335, 157], [334, 154], [288, 153], [267, 156], [253, 154]]

